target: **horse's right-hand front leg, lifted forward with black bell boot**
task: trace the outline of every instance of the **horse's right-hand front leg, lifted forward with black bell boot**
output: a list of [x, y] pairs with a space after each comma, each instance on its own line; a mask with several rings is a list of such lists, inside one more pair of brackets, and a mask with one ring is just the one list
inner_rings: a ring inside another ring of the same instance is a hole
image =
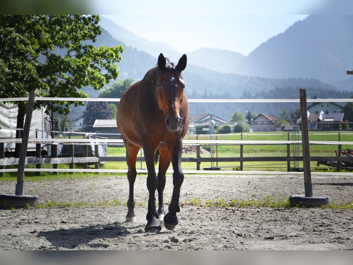
[[171, 160], [173, 165], [173, 194], [172, 200], [168, 206], [168, 213], [164, 216], [164, 227], [168, 230], [174, 230], [175, 226], [179, 224], [179, 218], [177, 213], [180, 212], [179, 196], [181, 184], [184, 181], [184, 174], [181, 170], [181, 152], [182, 152], [182, 139], [173, 146], [170, 151]]

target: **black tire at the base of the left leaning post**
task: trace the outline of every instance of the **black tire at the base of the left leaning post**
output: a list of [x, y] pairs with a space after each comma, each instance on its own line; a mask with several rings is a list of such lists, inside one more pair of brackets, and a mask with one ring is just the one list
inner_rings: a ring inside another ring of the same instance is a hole
[[36, 195], [7, 195], [0, 194], [0, 208], [36, 207], [41, 198]]

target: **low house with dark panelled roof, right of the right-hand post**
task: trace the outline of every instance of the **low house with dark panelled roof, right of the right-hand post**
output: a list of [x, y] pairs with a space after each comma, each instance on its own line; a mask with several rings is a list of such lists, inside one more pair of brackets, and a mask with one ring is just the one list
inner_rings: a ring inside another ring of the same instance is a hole
[[[310, 113], [308, 116], [309, 130], [333, 130], [339, 129], [339, 125], [343, 122], [345, 113]], [[301, 125], [301, 118], [298, 122]]]

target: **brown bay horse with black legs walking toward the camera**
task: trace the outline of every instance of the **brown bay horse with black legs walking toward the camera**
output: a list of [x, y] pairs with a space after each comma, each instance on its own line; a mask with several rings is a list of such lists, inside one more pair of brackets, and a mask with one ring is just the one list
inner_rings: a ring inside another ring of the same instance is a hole
[[[158, 219], [163, 216], [164, 227], [168, 230], [174, 230], [179, 223], [179, 195], [184, 180], [181, 170], [182, 141], [190, 118], [189, 102], [184, 94], [185, 83], [181, 76], [186, 67], [186, 60], [184, 54], [175, 66], [161, 53], [157, 65], [121, 96], [116, 112], [116, 124], [126, 147], [128, 166], [129, 198], [126, 222], [136, 222], [133, 189], [137, 175], [136, 158], [142, 147], [148, 171], [149, 199], [145, 226], [145, 231], [148, 232], [158, 232], [162, 229]], [[160, 160], [157, 176], [155, 163], [157, 164], [158, 155]], [[165, 214], [163, 190], [170, 162], [173, 166], [174, 188], [168, 213]]]

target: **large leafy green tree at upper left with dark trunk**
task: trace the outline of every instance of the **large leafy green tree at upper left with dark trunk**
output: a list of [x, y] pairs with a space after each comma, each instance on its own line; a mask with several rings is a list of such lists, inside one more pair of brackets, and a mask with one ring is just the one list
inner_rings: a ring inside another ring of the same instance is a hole
[[[92, 45], [101, 34], [99, 16], [1, 15], [0, 98], [36, 96], [86, 98], [79, 89], [101, 89], [118, 77], [121, 46]], [[92, 43], [93, 42], [93, 43]], [[82, 101], [36, 101], [59, 114]], [[26, 102], [18, 101], [17, 128], [23, 128]], [[16, 138], [20, 138], [17, 130]], [[16, 146], [18, 154], [18, 145]]]

